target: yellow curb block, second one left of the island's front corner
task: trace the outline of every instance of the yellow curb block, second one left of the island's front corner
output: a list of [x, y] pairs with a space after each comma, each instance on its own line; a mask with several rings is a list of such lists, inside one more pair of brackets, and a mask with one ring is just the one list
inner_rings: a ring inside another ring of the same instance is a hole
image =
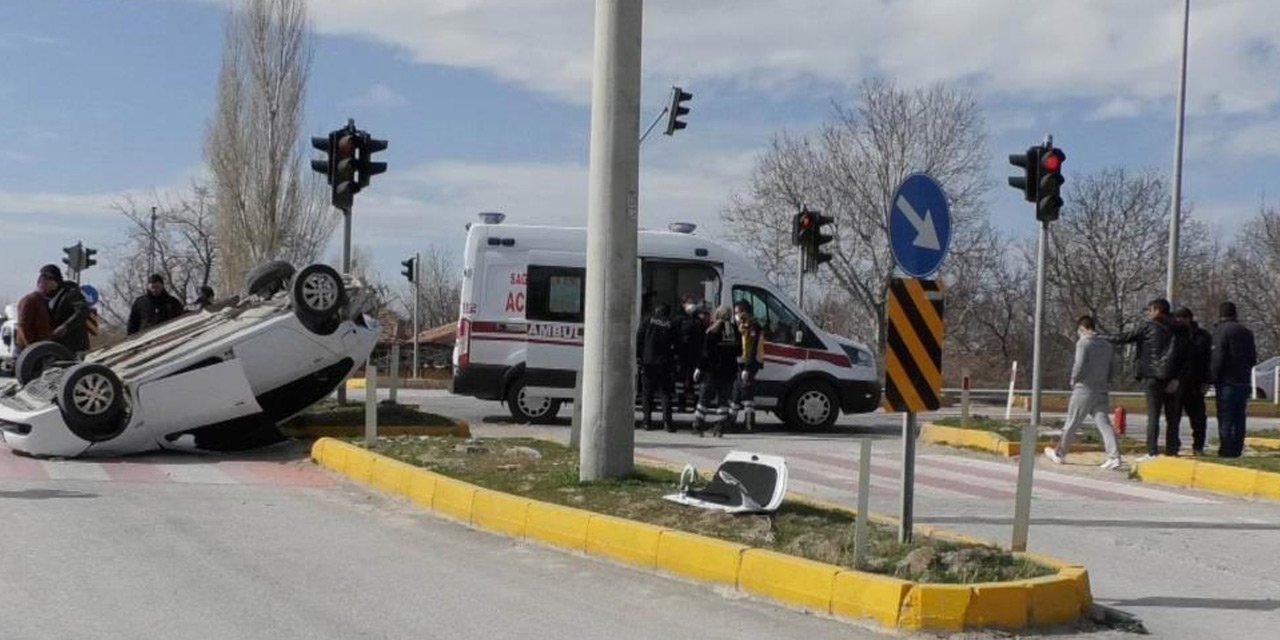
[[831, 613], [831, 593], [840, 567], [765, 549], [742, 552], [737, 586], [819, 613]]

